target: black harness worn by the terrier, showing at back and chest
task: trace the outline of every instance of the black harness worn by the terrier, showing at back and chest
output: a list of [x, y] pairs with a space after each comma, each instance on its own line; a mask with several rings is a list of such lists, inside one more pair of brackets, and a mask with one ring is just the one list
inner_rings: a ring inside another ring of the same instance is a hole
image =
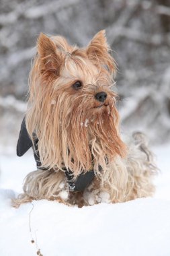
[[[33, 146], [32, 140], [30, 139], [30, 136], [28, 135], [28, 131], [26, 129], [26, 119], [24, 118], [19, 133], [19, 139], [17, 141], [17, 156], [23, 156], [31, 147], [34, 152], [34, 158], [36, 160], [37, 168], [41, 170], [48, 170], [47, 168], [41, 167], [42, 163], [40, 162], [40, 156], [38, 152], [38, 139], [34, 139]], [[65, 177], [67, 177], [70, 191], [84, 191], [85, 188], [88, 187], [93, 181], [95, 173], [93, 170], [89, 170], [85, 173], [82, 172], [81, 174], [79, 174], [77, 179], [73, 181], [73, 172], [65, 168]]]

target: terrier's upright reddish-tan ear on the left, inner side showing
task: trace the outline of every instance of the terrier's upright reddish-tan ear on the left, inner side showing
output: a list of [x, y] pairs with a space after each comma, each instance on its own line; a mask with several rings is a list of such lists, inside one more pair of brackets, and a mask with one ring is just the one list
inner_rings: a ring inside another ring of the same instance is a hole
[[61, 57], [54, 42], [45, 34], [40, 33], [37, 49], [41, 59], [41, 72], [48, 71], [57, 75], [61, 65]]

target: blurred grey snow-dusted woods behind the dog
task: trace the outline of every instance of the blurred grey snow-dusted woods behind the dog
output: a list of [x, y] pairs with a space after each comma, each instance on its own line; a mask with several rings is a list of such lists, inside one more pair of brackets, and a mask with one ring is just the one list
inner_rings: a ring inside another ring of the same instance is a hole
[[118, 63], [122, 131], [170, 141], [169, 0], [0, 0], [0, 153], [15, 150], [38, 34], [85, 46], [101, 29]]

